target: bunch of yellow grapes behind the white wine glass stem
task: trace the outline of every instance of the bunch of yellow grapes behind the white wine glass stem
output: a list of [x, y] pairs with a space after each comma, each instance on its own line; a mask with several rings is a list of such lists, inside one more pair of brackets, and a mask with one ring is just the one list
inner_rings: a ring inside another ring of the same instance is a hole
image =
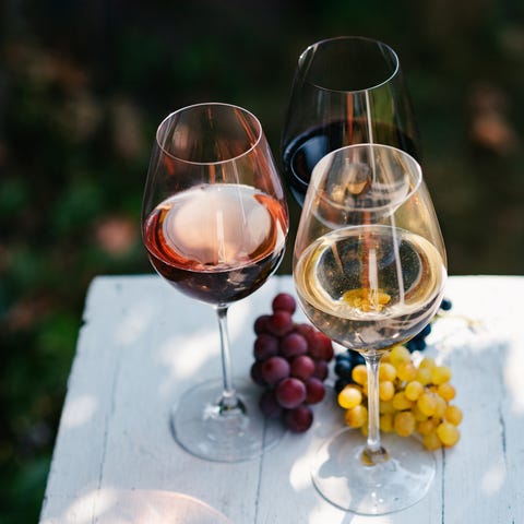
[[[455, 389], [450, 383], [451, 369], [425, 357], [415, 366], [405, 346], [386, 353], [379, 368], [380, 429], [401, 437], [418, 433], [428, 450], [454, 445], [461, 434], [457, 426], [462, 410], [451, 401]], [[364, 364], [352, 369], [352, 383], [337, 395], [346, 424], [367, 431], [367, 371]]]

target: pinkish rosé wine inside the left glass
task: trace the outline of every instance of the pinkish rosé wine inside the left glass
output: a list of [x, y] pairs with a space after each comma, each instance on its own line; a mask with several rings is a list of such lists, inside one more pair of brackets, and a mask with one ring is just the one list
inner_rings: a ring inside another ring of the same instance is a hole
[[241, 184], [202, 184], [153, 210], [144, 243], [155, 270], [192, 298], [214, 305], [258, 289], [284, 255], [287, 213]]

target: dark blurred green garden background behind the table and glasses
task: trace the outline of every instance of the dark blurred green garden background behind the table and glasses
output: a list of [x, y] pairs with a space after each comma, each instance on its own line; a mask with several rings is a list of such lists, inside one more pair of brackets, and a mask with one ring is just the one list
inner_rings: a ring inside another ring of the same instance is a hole
[[139, 219], [159, 121], [240, 105], [278, 158], [297, 58], [338, 35], [400, 55], [450, 273], [523, 274], [524, 2], [0, 3], [1, 524], [37, 521], [91, 279], [152, 272]]

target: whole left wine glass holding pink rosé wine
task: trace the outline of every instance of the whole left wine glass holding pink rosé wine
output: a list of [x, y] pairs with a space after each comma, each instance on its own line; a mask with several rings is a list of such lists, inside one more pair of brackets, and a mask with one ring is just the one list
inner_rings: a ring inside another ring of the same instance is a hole
[[144, 190], [143, 241], [164, 279], [214, 307], [221, 335], [222, 380], [184, 393], [171, 414], [175, 438], [200, 457], [248, 460], [283, 434], [259, 413], [249, 381], [234, 384], [227, 310], [275, 272], [287, 230], [282, 183], [252, 114], [196, 104], [160, 123]]

